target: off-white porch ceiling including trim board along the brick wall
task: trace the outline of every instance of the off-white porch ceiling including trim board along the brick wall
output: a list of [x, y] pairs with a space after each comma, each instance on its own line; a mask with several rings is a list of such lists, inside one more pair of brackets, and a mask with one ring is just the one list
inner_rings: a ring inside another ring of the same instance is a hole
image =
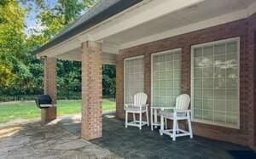
[[130, 48], [190, 31], [241, 20], [255, 11], [255, 0], [206, 0], [107, 37], [105, 41], [118, 43], [120, 49]]

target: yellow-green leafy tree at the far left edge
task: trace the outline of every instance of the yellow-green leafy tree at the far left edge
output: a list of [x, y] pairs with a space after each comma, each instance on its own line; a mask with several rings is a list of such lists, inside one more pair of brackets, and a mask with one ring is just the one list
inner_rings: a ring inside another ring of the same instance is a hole
[[0, 90], [16, 87], [15, 82], [30, 76], [22, 63], [25, 43], [24, 15], [15, 0], [0, 3]]

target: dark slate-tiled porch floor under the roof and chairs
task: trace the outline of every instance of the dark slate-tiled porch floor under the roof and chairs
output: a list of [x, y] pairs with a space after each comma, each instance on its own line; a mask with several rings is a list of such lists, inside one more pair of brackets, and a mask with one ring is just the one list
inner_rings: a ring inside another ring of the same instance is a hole
[[[76, 121], [77, 122], [71, 122]], [[61, 125], [68, 131], [80, 135], [79, 118], [67, 118]], [[241, 145], [234, 145], [195, 136], [177, 138], [160, 136], [157, 130], [149, 128], [125, 128], [125, 122], [116, 118], [103, 117], [103, 137], [91, 141], [124, 158], [256, 158], [255, 152]]]

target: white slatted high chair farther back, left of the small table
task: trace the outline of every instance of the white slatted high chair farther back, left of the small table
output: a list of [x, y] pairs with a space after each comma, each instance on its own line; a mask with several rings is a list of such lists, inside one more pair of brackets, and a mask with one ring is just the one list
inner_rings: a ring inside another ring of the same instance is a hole
[[[142, 129], [142, 127], [146, 124], [149, 126], [147, 99], [147, 94], [137, 93], [134, 95], [133, 104], [125, 104], [125, 128], [128, 126], [133, 126]], [[133, 121], [131, 122], [128, 122], [128, 113], [133, 114]], [[143, 121], [143, 113], [146, 113], [146, 122]], [[139, 114], [139, 120], [136, 120], [136, 114]]]

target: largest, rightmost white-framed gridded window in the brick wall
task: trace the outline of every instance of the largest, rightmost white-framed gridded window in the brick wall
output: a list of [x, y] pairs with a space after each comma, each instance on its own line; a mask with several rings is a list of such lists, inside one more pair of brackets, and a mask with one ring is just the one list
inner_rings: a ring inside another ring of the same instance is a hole
[[192, 47], [192, 117], [239, 128], [239, 38]]

